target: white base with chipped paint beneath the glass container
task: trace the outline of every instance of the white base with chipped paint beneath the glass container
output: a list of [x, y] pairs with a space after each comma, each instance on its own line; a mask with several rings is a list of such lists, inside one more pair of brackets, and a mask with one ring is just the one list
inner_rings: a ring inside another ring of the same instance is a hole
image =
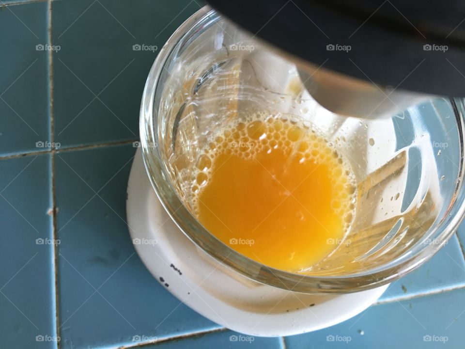
[[285, 336], [329, 327], [368, 308], [388, 286], [344, 295], [308, 295], [233, 273], [172, 222], [152, 188], [140, 148], [129, 176], [126, 211], [136, 251], [155, 278], [193, 310], [239, 333]]

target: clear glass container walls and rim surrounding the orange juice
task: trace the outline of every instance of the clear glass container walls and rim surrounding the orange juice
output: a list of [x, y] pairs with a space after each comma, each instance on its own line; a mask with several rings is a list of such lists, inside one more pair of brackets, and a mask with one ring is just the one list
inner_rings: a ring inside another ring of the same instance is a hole
[[[350, 231], [307, 270], [251, 260], [193, 213], [189, 188], [200, 150], [218, 129], [257, 111], [317, 129], [349, 160], [358, 183]], [[431, 98], [383, 119], [327, 111], [303, 87], [293, 62], [207, 6], [159, 52], [140, 110], [147, 174], [184, 234], [241, 277], [303, 293], [387, 284], [447, 243], [465, 209], [463, 131], [462, 99]]]

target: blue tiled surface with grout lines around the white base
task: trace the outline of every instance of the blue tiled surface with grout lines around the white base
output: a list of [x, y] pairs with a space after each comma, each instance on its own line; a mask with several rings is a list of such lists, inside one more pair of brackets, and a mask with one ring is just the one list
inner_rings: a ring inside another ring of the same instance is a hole
[[[1, 349], [463, 348], [465, 225], [366, 312], [314, 333], [248, 337], [174, 298], [125, 222], [156, 55], [132, 45], [161, 48], [202, 3], [21, 2], [0, 2]], [[36, 49], [50, 43], [60, 49]]]

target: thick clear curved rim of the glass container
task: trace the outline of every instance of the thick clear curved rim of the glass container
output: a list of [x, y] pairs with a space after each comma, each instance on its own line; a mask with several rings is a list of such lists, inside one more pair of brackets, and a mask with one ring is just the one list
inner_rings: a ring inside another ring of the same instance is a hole
[[[148, 75], [140, 107], [140, 143], [146, 172], [162, 206], [178, 228], [206, 254], [222, 265], [259, 283], [285, 290], [302, 293], [348, 293], [367, 290], [390, 283], [408, 272], [418, 268], [432, 257], [453, 235], [465, 213], [464, 177], [465, 103], [462, 98], [450, 98], [459, 132], [460, 163], [458, 180], [454, 189], [453, 201], [447, 212], [435, 226], [431, 227], [429, 244], [417, 243], [409, 251], [370, 270], [358, 271], [348, 275], [306, 275], [265, 266], [236, 252], [208, 232], [197, 218], [182, 203], [171, 183], [171, 175], [159, 153], [157, 121], [158, 106], [154, 110], [155, 97], [160, 94], [160, 77], [166, 74], [165, 66], [170, 62], [176, 48], [186, 47], [189, 39], [199, 35], [205, 28], [222, 17], [209, 6], [204, 6], [190, 16], [168, 39], [159, 51]], [[155, 144], [155, 146], [154, 146]]]

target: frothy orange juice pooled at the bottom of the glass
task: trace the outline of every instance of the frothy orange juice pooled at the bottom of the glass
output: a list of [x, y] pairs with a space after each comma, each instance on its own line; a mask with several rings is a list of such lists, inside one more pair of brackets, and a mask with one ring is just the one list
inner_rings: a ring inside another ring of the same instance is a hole
[[254, 115], [222, 129], [200, 154], [194, 212], [237, 252], [269, 267], [304, 271], [347, 233], [353, 175], [315, 130]]

